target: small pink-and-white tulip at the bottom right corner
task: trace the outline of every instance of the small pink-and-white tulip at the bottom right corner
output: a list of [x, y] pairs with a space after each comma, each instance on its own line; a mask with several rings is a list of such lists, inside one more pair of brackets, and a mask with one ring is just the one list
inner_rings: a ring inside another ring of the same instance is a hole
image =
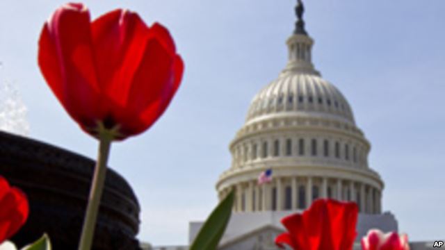
[[368, 235], [362, 238], [362, 250], [410, 250], [410, 245], [406, 234], [384, 234], [378, 229], [371, 229]]

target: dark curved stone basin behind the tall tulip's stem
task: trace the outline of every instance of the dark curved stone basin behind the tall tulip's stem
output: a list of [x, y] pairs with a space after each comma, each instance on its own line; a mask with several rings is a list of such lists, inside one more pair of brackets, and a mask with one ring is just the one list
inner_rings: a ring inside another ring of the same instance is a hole
[[[0, 132], [0, 175], [30, 203], [28, 221], [11, 240], [22, 247], [46, 232], [53, 249], [76, 249], [94, 165], [65, 149]], [[108, 169], [93, 249], [139, 249], [139, 211], [127, 181]]]

